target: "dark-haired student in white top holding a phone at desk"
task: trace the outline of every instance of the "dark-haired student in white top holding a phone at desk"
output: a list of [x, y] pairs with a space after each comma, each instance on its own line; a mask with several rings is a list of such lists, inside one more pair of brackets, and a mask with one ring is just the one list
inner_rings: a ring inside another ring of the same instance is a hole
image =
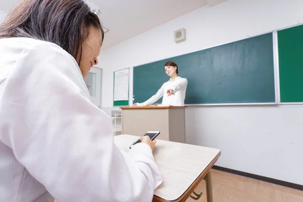
[[83, 77], [104, 40], [82, 0], [23, 0], [0, 25], [0, 201], [151, 201], [148, 136], [129, 153]]

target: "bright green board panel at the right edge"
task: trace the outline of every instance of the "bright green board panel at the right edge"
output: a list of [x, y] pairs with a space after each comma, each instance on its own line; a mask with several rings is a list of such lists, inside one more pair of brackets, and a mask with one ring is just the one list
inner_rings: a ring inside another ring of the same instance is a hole
[[303, 25], [278, 31], [280, 102], [303, 102]]

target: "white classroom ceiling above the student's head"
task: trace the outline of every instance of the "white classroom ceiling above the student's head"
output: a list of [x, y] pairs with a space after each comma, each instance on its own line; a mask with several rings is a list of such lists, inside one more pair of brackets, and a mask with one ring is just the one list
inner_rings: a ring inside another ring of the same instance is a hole
[[[204, 6], [226, 0], [86, 0], [100, 9], [98, 15], [109, 31], [102, 49], [153, 29]], [[8, 12], [17, 0], [0, 0], [0, 10]]]

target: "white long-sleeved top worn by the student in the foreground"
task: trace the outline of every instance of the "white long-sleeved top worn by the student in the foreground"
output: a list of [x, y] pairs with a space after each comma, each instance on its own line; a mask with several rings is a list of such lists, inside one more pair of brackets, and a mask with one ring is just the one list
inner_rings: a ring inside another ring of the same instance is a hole
[[114, 144], [71, 55], [0, 39], [0, 201], [151, 201], [161, 182], [147, 144]]

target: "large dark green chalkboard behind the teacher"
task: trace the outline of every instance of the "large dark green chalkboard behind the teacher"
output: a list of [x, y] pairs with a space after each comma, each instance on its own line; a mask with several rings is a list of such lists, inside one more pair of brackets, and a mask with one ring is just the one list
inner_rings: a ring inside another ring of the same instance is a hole
[[169, 80], [163, 69], [168, 60], [188, 80], [187, 105], [276, 102], [272, 33], [134, 67], [134, 103], [144, 102]]

